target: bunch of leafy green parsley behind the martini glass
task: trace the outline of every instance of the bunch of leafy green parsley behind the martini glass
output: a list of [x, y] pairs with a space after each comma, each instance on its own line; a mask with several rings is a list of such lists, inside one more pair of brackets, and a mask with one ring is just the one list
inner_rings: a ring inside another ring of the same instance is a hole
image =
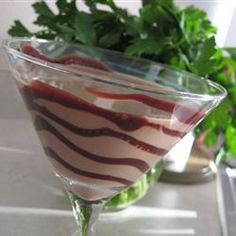
[[212, 145], [223, 135], [218, 158], [236, 158], [236, 50], [217, 47], [214, 38], [217, 29], [206, 13], [193, 6], [177, 7], [173, 0], [142, 0], [138, 15], [118, 7], [113, 0], [84, 0], [84, 3], [88, 12], [81, 11], [76, 0], [57, 0], [58, 12], [54, 13], [46, 2], [37, 1], [32, 5], [37, 14], [34, 24], [41, 30], [31, 32], [16, 20], [9, 34], [59, 38], [118, 50], [222, 84], [228, 97], [196, 131], [207, 130], [206, 145]]

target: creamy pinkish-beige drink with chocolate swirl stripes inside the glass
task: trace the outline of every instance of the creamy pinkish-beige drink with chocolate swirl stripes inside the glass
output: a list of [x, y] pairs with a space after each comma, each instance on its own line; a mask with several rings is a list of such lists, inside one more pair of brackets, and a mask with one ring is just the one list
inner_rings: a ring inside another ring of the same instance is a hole
[[30, 45], [22, 51], [81, 73], [57, 74], [29, 62], [21, 65], [27, 76], [17, 82], [57, 175], [82, 199], [107, 198], [132, 185], [204, 116], [197, 105], [98, 83], [103, 75], [115, 83], [134, 78], [95, 59], [54, 59]]

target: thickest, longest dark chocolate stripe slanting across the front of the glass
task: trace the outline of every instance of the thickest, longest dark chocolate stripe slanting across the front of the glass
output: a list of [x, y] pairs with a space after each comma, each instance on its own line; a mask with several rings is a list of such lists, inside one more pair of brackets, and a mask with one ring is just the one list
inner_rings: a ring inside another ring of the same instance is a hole
[[183, 137], [186, 133], [166, 128], [163, 125], [149, 122], [146, 118], [135, 116], [122, 112], [114, 112], [101, 107], [97, 107], [88, 103], [68, 92], [54, 88], [40, 81], [33, 81], [31, 86], [24, 86], [21, 91], [26, 100], [45, 99], [51, 102], [56, 102], [67, 108], [72, 108], [79, 111], [85, 111], [96, 116], [103, 117], [112, 123], [116, 124], [120, 129], [125, 131], [135, 131], [144, 126], [157, 129], [171, 136]]

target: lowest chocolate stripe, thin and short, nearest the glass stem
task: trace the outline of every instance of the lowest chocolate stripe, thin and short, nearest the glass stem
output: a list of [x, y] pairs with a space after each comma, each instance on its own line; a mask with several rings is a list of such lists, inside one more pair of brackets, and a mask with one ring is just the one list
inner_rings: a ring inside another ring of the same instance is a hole
[[115, 177], [115, 176], [111, 176], [111, 175], [96, 174], [96, 173], [93, 173], [93, 172], [84, 171], [84, 170], [81, 170], [77, 167], [74, 167], [71, 164], [64, 161], [63, 158], [61, 158], [50, 147], [45, 147], [44, 151], [47, 153], [47, 155], [50, 158], [52, 158], [53, 160], [56, 160], [61, 165], [63, 165], [66, 169], [68, 169], [68, 170], [72, 171], [73, 173], [78, 174], [80, 176], [87, 177], [87, 178], [92, 178], [92, 179], [114, 181], [114, 182], [118, 182], [118, 183], [121, 183], [121, 184], [126, 185], [126, 186], [133, 184], [132, 181], [124, 179], [124, 178]]

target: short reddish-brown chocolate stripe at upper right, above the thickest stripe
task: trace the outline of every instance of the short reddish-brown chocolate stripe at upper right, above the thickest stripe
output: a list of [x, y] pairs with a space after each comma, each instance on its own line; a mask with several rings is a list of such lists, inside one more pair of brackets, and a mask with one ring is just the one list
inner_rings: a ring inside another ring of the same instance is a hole
[[185, 124], [195, 124], [204, 116], [202, 112], [194, 110], [190, 107], [186, 107], [178, 103], [160, 100], [157, 98], [152, 98], [144, 94], [115, 94], [100, 91], [93, 87], [87, 87], [86, 90], [96, 95], [97, 97], [102, 97], [106, 99], [133, 100], [141, 102], [150, 107], [154, 107], [156, 109], [163, 110], [171, 114], [173, 113], [180, 122]]

